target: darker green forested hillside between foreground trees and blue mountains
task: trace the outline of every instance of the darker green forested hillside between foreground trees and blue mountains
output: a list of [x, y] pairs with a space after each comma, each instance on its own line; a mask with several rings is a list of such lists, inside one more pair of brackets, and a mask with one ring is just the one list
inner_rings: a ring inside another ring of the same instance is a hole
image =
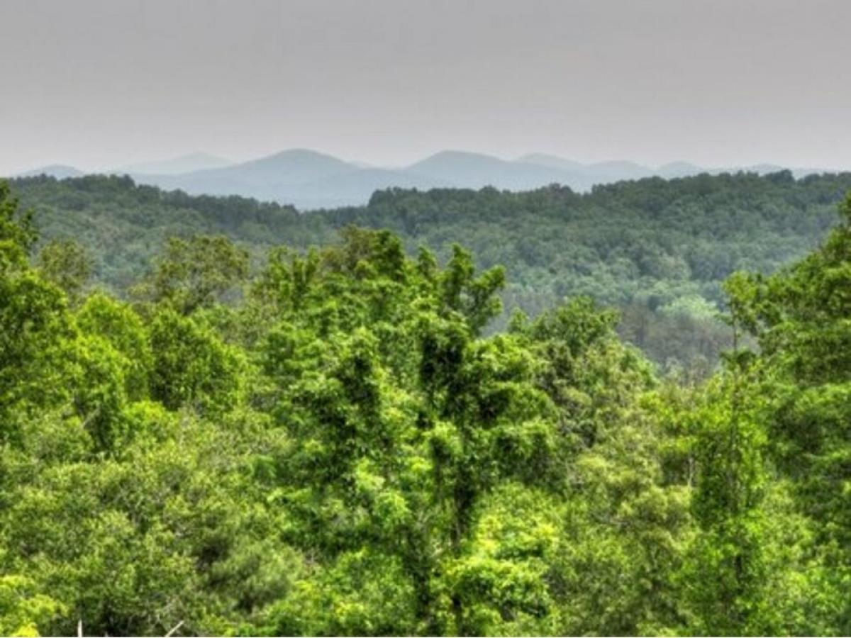
[[506, 310], [489, 329], [505, 328], [515, 307], [537, 316], [564, 297], [589, 295], [621, 310], [620, 335], [662, 369], [705, 376], [730, 345], [716, 318], [723, 279], [741, 269], [772, 272], [818, 246], [851, 174], [704, 174], [582, 195], [556, 186], [379, 191], [368, 206], [310, 214], [118, 177], [27, 178], [12, 186], [37, 211], [43, 241], [81, 243], [94, 259], [95, 281], [122, 296], [168, 236], [228, 236], [259, 267], [273, 246], [326, 246], [352, 224], [386, 228], [409, 255], [426, 246], [445, 263], [461, 241], [478, 267], [504, 265]]

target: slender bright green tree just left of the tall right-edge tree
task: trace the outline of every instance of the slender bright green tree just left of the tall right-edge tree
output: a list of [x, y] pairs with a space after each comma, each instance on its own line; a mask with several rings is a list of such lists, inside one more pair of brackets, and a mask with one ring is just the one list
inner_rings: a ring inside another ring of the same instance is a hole
[[[735, 355], [735, 353], [734, 353]], [[690, 437], [688, 482], [696, 529], [674, 582], [689, 633], [769, 634], [757, 607], [768, 600], [768, 486], [762, 407], [748, 390], [757, 372], [732, 356], [729, 369], [672, 415]]]

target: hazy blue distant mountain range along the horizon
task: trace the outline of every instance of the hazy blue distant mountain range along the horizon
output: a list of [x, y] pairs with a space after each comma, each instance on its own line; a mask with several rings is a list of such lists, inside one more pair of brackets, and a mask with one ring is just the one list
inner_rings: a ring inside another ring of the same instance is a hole
[[[751, 171], [774, 173], [783, 167], [760, 164], [741, 168], [704, 168], [688, 162], [671, 162], [650, 168], [634, 162], [583, 164], [563, 157], [534, 153], [504, 160], [468, 151], [441, 151], [403, 168], [379, 168], [346, 162], [317, 151], [292, 149], [248, 162], [229, 162], [205, 153], [145, 162], [106, 171], [129, 174], [137, 183], [192, 195], [242, 195], [293, 204], [302, 210], [356, 206], [368, 202], [380, 189], [390, 187], [474, 188], [491, 185], [506, 191], [528, 191], [550, 184], [589, 191], [593, 185], [625, 179], [673, 179], [700, 173]], [[794, 169], [797, 177], [820, 173]], [[23, 176], [48, 174], [57, 179], [79, 177], [83, 171], [54, 164], [27, 171]]]

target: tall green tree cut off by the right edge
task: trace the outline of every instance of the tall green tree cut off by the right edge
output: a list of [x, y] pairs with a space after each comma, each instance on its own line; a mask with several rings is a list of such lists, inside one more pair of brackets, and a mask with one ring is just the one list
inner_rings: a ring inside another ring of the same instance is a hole
[[[851, 572], [847, 549], [851, 542], [847, 532], [851, 525], [851, 492], [847, 489], [851, 476], [849, 211], [851, 198], [840, 207], [842, 225], [819, 250], [801, 262], [768, 278], [739, 276], [728, 285], [734, 318], [745, 317], [742, 325], [751, 330], [760, 345], [759, 353], [749, 355], [757, 361], [757, 374], [745, 390], [745, 397], [750, 396], [750, 401], [757, 404], [754, 418], [770, 441], [765, 449], [781, 476], [790, 480], [787, 488], [796, 497], [797, 511], [787, 509], [779, 516], [810, 519], [802, 521], [802, 538], [794, 541], [809, 560], [799, 558], [797, 565], [789, 561], [806, 578], [798, 576], [796, 581], [787, 575], [784, 582], [791, 590], [783, 592], [794, 597], [791, 592], [797, 589], [807, 592], [798, 596], [819, 596], [823, 600], [820, 608], [813, 610], [813, 624], [801, 624], [800, 619], [791, 624], [804, 628], [795, 629], [804, 633], [847, 633], [851, 627], [847, 595], [839, 594], [843, 587], [847, 588]], [[770, 522], [772, 526], [779, 525]], [[810, 525], [814, 536], [808, 535]], [[752, 525], [746, 527], [745, 533], [752, 534], [752, 529]], [[788, 540], [785, 542], [789, 544]], [[781, 554], [779, 550], [774, 552]], [[824, 571], [821, 561], [827, 561], [832, 568]], [[832, 603], [828, 602], [831, 597]], [[768, 596], [765, 600], [769, 600]], [[836, 611], [825, 614], [831, 604]], [[773, 622], [781, 622], [767, 607], [768, 604], [763, 611], [774, 618]], [[755, 630], [786, 630], [785, 624], [768, 627], [757, 626]]]

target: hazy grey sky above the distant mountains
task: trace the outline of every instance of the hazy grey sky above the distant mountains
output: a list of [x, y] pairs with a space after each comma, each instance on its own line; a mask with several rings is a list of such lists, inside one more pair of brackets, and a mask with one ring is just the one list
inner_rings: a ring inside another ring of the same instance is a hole
[[0, 0], [0, 174], [309, 147], [851, 168], [851, 0]]

